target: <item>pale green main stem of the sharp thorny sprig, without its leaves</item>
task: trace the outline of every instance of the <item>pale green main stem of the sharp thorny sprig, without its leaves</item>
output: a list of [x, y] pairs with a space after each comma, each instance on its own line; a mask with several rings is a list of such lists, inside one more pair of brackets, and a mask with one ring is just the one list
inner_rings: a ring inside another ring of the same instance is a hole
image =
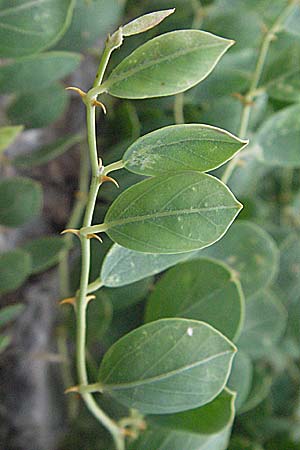
[[[109, 41], [103, 52], [100, 61], [97, 76], [94, 82], [94, 87], [101, 84], [105, 69], [107, 67], [109, 57], [112, 50], [109, 46]], [[96, 143], [96, 114], [95, 106], [86, 102], [87, 114], [87, 135], [89, 145], [89, 157], [92, 169], [92, 179], [90, 191], [88, 193], [86, 211], [83, 219], [83, 227], [89, 227], [92, 224], [94, 208], [97, 200], [97, 194], [101, 186], [101, 168], [98, 164], [98, 153]], [[76, 336], [76, 361], [78, 381], [82, 386], [88, 384], [88, 374], [86, 367], [86, 309], [87, 309], [87, 294], [90, 274], [90, 240], [85, 237], [80, 237], [81, 243], [81, 277], [78, 297], [76, 299], [76, 316], [77, 316], [77, 336]], [[124, 450], [124, 437], [120, 427], [99, 407], [90, 393], [82, 393], [87, 408], [94, 415], [94, 417], [101, 422], [101, 424], [111, 433], [117, 450]]]

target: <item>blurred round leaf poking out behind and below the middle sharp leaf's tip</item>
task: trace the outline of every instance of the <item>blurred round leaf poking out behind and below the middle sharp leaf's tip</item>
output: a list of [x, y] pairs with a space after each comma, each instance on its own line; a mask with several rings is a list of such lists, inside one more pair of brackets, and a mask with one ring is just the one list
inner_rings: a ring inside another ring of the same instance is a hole
[[201, 255], [228, 264], [246, 297], [270, 284], [277, 274], [279, 252], [275, 242], [262, 228], [244, 220], [233, 224], [220, 242]]

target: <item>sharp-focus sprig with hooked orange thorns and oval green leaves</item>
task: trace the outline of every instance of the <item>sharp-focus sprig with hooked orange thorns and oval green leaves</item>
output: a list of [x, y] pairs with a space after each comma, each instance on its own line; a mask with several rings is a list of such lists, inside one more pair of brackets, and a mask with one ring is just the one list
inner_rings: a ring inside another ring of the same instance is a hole
[[[88, 379], [86, 310], [93, 292], [102, 286], [129, 284], [175, 262], [197, 258], [200, 249], [226, 233], [242, 208], [224, 183], [205, 173], [247, 145], [225, 130], [197, 123], [160, 128], [133, 142], [121, 160], [106, 166], [98, 152], [95, 111], [96, 107], [105, 111], [99, 95], [143, 99], [184, 92], [205, 79], [233, 45], [233, 41], [198, 30], [165, 33], [138, 47], [104, 78], [110, 56], [124, 38], [154, 27], [173, 12], [149, 13], [120, 27], [106, 40], [93, 87], [87, 93], [69, 88], [80, 94], [86, 106], [92, 168], [82, 227], [64, 231], [79, 237], [82, 255], [80, 287], [74, 299], [78, 386], [69, 391], [81, 394], [92, 414], [112, 434], [118, 450], [125, 448], [128, 429], [129, 434], [131, 428], [136, 432], [141, 423], [134, 414], [116, 423], [92, 394], [107, 393], [141, 415], [181, 413], [209, 404], [223, 391], [236, 352], [225, 334], [236, 338], [242, 316], [237, 280], [224, 267], [205, 262], [205, 276], [212, 271], [217, 283], [232, 285], [238, 311], [231, 330], [221, 334], [204, 321], [186, 315], [157, 318], [150, 310], [150, 323], [117, 341], [103, 358], [98, 380], [91, 383]], [[117, 184], [110, 174], [122, 168], [147, 178], [112, 203], [102, 224], [93, 224], [100, 186]], [[101, 233], [115, 245], [100, 277], [89, 284], [90, 240], [101, 239]], [[126, 273], [118, 268], [122, 260], [128, 266]], [[223, 395], [232, 398], [229, 392]]]

